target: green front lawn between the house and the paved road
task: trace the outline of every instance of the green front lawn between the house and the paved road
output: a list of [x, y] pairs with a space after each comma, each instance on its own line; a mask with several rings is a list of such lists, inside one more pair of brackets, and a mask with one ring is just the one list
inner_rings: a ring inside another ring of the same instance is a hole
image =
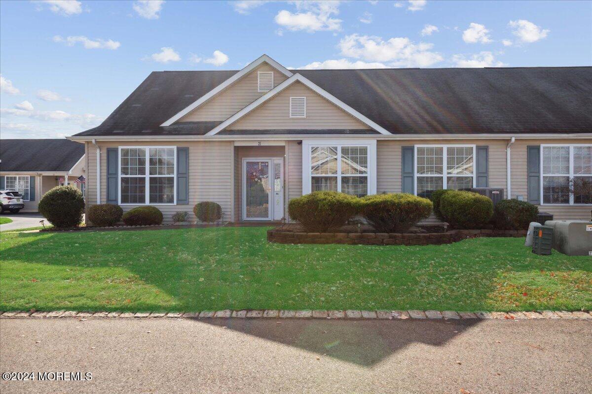
[[523, 238], [280, 245], [266, 230], [3, 232], [0, 309], [592, 309], [592, 258]]

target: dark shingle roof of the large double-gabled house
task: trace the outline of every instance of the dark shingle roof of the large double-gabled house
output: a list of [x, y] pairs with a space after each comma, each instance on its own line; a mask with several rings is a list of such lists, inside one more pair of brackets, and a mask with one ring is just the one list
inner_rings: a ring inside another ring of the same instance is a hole
[[[592, 132], [592, 67], [293, 71], [395, 134]], [[160, 125], [236, 72], [153, 72], [76, 135], [203, 135], [220, 122]]]

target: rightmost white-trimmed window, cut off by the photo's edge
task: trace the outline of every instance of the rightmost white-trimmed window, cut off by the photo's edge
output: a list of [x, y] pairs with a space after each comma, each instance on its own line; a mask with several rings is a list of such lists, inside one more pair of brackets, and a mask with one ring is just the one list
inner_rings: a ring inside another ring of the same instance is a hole
[[592, 204], [592, 145], [541, 145], [543, 204]]

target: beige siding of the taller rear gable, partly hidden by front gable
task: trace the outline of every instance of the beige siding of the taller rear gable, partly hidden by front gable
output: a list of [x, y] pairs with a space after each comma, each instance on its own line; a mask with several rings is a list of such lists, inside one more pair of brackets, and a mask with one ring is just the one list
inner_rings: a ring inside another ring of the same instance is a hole
[[258, 71], [273, 71], [274, 87], [287, 79], [284, 74], [268, 64], [262, 64], [223, 92], [218, 93], [213, 99], [189, 112], [178, 122], [224, 121], [230, 118], [231, 115], [265, 95], [266, 92], [257, 92]]

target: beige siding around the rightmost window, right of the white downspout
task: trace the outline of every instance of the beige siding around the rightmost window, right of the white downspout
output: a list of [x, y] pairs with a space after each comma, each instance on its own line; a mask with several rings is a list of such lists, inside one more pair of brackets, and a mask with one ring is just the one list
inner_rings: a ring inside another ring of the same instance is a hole
[[[513, 198], [522, 196], [527, 200], [527, 164], [526, 147], [541, 144], [591, 144], [592, 139], [518, 139], [511, 146], [511, 193]], [[540, 205], [539, 211], [553, 214], [556, 220], [590, 219], [592, 205]]]

